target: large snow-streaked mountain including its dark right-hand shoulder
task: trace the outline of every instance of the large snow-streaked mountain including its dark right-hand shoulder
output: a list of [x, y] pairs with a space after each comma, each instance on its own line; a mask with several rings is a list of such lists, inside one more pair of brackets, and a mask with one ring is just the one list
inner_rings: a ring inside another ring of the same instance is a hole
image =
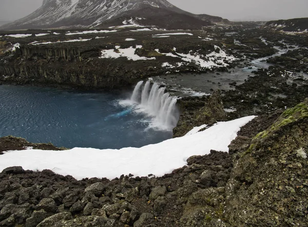
[[44, 0], [43, 5], [30, 15], [0, 29], [97, 27], [127, 15], [140, 16], [147, 19], [142, 22], [148, 24], [152, 21], [151, 25], [163, 27], [168, 27], [166, 22], [168, 24], [169, 21], [175, 25], [202, 27], [211, 25], [211, 20], [223, 20], [221, 17], [186, 12], [166, 0]]

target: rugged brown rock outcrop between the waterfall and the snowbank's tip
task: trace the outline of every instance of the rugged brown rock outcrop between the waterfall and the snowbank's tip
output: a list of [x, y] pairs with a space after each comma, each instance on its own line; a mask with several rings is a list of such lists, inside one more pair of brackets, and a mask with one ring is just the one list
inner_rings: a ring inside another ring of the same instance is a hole
[[[224, 120], [225, 112], [223, 110], [220, 90], [216, 90], [206, 101], [201, 99], [199, 102], [201, 105], [204, 103], [203, 107], [198, 108], [198, 105], [191, 103], [190, 99], [180, 101], [179, 105], [182, 114], [177, 127], [173, 130], [174, 137], [182, 137], [195, 126], [204, 124], [210, 126], [217, 121]], [[192, 105], [192, 109], [187, 108], [187, 104]]]

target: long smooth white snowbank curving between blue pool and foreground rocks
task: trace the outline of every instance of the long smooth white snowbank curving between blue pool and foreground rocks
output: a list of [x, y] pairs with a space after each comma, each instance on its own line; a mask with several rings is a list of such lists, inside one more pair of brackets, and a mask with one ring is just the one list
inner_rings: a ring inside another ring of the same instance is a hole
[[141, 148], [8, 151], [1, 155], [0, 172], [7, 167], [22, 166], [33, 171], [50, 169], [58, 174], [72, 175], [76, 179], [113, 179], [129, 173], [134, 176], [162, 176], [186, 165], [187, 158], [192, 155], [208, 154], [211, 149], [228, 151], [228, 145], [236, 138], [240, 127], [254, 118], [250, 116], [219, 122], [202, 132], [197, 132], [198, 128], [195, 128], [190, 135]]

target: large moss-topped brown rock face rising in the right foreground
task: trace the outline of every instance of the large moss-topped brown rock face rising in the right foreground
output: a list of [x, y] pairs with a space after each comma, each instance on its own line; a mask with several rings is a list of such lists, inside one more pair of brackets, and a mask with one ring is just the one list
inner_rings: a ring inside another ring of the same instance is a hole
[[239, 153], [226, 187], [230, 224], [308, 224], [307, 139], [308, 99], [284, 111]]

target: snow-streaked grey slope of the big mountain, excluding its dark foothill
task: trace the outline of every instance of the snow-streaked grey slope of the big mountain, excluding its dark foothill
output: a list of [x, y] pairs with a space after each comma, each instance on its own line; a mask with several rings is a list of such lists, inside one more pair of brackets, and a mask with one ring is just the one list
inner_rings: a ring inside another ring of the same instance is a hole
[[[177, 13], [197, 19], [194, 14], [166, 0], [44, 0], [42, 7], [32, 14], [0, 29], [93, 27], [110, 19], [133, 15], [134, 11], [140, 12], [145, 8], [167, 10], [170, 14]], [[146, 17], [146, 14], [148, 12], [143, 16]], [[162, 17], [160, 19], [164, 20]]]

